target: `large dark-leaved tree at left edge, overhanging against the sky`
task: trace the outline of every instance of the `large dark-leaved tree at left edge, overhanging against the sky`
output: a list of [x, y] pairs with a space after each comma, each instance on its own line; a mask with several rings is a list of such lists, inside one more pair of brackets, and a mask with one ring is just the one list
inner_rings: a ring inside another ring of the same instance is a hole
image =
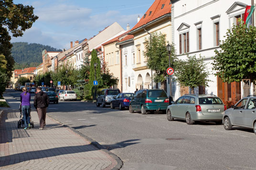
[[33, 22], [38, 19], [33, 14], [32, 6], [14, 4], [12, 0], [0, 0], [0, 54], [7, 60], [6, 73], [11, 77], [14, 60], [11, 57], [11, 36], [19, 37], [23, 32], [32, 27]]

